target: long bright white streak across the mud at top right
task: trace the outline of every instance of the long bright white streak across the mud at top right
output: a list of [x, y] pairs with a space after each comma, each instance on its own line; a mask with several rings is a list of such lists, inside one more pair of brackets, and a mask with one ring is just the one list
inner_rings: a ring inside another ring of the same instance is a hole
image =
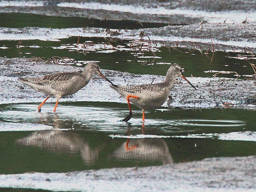
[[60, 3], [57, 4], [59, 7], [72, 7], [79, 9], [91, 9], [91, 10], [108, 10], [108, 11], [119, 11], [119, 12], [131, 12], [136, 14], [160, 14], [160, 15], [184, 15], [186, 17], [203, 17], [208, 22], [223, 23], [242, 23], [246, 19], [249, 22], [256, 21], [256, 12], [243, 12], [243, 11], [228, 11], [228, 12], [207, 12], [207, 11], [196, 11], [189, 9], [167, 9], [164, 7], [157, 6], [157, 8], [147, 8], [133, 5], [118, 5], [118, 4], [101, 4], [101, 3]]

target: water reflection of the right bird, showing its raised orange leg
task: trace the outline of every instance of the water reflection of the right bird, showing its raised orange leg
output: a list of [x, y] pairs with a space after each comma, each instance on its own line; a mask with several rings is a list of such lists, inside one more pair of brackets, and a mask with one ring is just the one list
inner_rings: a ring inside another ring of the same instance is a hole
[[[144, 123], [142, 124], [144, 134]], [[140, 159], [161, 161], [163, 164], [172, 164], [172, 156], [163, 138], [130, 139], [116, 149], [112, 154], [116, 159]]]

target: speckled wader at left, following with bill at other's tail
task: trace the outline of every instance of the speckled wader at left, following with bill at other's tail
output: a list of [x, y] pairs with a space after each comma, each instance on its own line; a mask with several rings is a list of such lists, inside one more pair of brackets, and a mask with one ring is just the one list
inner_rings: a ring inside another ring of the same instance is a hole
[[[47, 95], [47, 98], [38, 106], [38, 112], [47, 99], [55, 97], [57, 99], [53, 112], [56, 111], [59, 99], [63, 96], [72, 95], [88, 84], [93, 74], [98, 74], [110, 82], [102, 75], [100, 67], [96, 62], [89, 62], [83, 72], [60, 72], [41, 77], [23, 77], [20, 82], [29, 85], [32, 89]], [[111, 83], [111, 82], [110, 82]], [[112, 84], [112, 83], [111, 83]]]

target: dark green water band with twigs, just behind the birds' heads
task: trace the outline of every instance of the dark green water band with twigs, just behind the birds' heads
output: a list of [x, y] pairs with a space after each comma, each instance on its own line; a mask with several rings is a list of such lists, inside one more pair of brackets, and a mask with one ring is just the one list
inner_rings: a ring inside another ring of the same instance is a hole
[[[130, 72], [134, 74], [155, 74], [165, 76], [166, 71], [170, 67], [169, 64], [178, 63], [185, 68], [186, 76], [203, 76], [210, 77], [214, 73], [204, 73], [208, 70], [218, 71], [236, 71], [240, 75], [252, 75], [254, 72], [249, 62], [246, 60], [237, 60], [237, 55], [241, 53], [234, 52], [215, 52], [214, 59], [210, 65], [210, 59], [205, 55], [201, 55], [199, 51], [194, 51], [186, 54], [185, 49], [181, 49], [184, 52], [178, 52], [173, 49], [166, 47], [160, 47], [159, 51], [156, 52], [157, 57], [152, 65], [141, 65], [135, 58], [135, 50], [132, 50], [127, 44], [131, 42], [128, 40], [119, 40], [117, 42], [111, 42], [115, 46], [115, 52], [108, 53], [104, 49], [96, 51], [88, 51], [86, 55], [82, 51], [74, 51], [70, 48], [72, 44], [77, 42], [78, 37], [71, 37], [68, 39], [60, 39], [56, 41], [39, 41], [39, 40], [24, 40], [21, 45], [24, 47], [20, 48], [21, 57], [42, 57], [49, 59], [53, 56], [69, 57], [75, 60], [98, 60], [100, 61], [100, 67], [103, 69], [119, 70], [122, 72]], [[86, 38], [82, 37], [81, 42], [91, 41], [93, 44], [104, 45], [106, 41], [104, 38]], [[18, 41], [0, 41], [0, 47], [5, 46], [8, 49], [2, 49], [0, 52], [1, 57], [19, 57], [17, 49]], [[39, 48], [33, 48], [31, 46], [37, 45]], [[123, 50], [124, 46], [128, 50]], [[67, 49], [61, 49], [60, 46], [65, 46]], [[72, 50], [72, 51], [70, 51]], [[29, 53], [29, 54], [26, 54]], [[147, 54], [150, 55], [149, 53]], [[243, 55], [249, 55], [244, 53]], [[211, 58], [211, 53], [209, 54]], [[141, 58], [140, 58], [141, 59]], [[143, 58], [142, 58], [143, 60]], [[145, 61], [151, 61], [153, 58], [145, 58]], [[167, 63], [167, 64], [166, 64]], [[83, 66], [81, 66], [83, 67]], [[219, 74], [222, 77], [236, 78], [234, 74]]]

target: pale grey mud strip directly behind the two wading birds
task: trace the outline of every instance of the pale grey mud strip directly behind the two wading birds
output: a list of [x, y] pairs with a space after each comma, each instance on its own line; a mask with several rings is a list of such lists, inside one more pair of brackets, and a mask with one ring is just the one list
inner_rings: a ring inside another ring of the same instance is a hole
[[[0, 97], [1, 104], [41, 102], [45, 97], [28, 86], [18, 82], [20, 76], [40, 76], [58, 71], [79, 71], [76, 65], [47, 64], [44, 60], [32, 58], [0, 58]], [[114, 84], [134, 85], [154, 83], [164, 80], [164, 76], [135, 75], [113, 70], [102, 70]], [[222, 108], [223, 103], [231, 102], [234, 108], [255, 109], [256, 81], [232, 78], [188, 77], [197, 88], [195, 91], [184, 81], [176, 83], [170, 93], [170, 100], [164, 103], [169, 108]], [[95, 92], [97, 90], [97, 92]], [[111, 95], [111, 97], [110, 97]], [[55, 101], [54, 98], [51, 99]], [[61, 101], [105, 101], [126, 103], [114, 92], [107, 81], [93, 76], [90, 83], [76, 94]]]

